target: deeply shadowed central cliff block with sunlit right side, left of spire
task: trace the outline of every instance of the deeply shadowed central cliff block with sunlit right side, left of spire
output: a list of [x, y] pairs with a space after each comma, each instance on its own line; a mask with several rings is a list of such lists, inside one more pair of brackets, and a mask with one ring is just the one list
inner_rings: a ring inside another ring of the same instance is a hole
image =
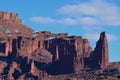
[[[58, 73], [78, 73], [84, 66], [84, 58], [88, 58], [92, 49], [87, 39], [80, 36], [66, 38], [47, 38], [45, 49], [53, 54], [53, 62]], [[68, 68], [68, 66], [71, 66]]]

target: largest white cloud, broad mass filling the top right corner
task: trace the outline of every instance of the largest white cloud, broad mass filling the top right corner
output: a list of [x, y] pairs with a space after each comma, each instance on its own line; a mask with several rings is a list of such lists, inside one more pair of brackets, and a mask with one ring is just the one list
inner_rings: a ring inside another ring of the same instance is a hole
[[[82, 17], [91, 16], [96, 19], [94, 24], [99, 22], [102, 25], [120, 26], [120, 8], [103, 0], [92, 0], [77, 5], [65, 5], [59, 8], [58, 12], [81, 19]], [[87, 22], [93, 24], [90, 20]]]

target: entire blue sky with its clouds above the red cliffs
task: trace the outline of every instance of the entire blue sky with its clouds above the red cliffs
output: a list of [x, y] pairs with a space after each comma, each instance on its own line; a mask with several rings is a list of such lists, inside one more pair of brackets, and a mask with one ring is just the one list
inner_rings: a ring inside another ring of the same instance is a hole
[[105, 31], [109, 59], [120, 61], [120, 0], [2, 0], [0, 10], [18, 13], [35, 31], [88, 38], [93, 49]]

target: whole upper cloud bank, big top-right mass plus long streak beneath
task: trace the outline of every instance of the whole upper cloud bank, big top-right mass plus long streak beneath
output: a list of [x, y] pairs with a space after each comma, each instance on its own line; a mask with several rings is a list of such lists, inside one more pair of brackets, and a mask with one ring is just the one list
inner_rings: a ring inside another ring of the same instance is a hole
[[88, 0], [75, 5], [64, 5], [56, 13], [61, 18], [36, 16], [30, 20], [42, 24], [81, 26], [86, 31], [99, 30], [105, 26], [120, 26], [120, 7], [107, 0]]

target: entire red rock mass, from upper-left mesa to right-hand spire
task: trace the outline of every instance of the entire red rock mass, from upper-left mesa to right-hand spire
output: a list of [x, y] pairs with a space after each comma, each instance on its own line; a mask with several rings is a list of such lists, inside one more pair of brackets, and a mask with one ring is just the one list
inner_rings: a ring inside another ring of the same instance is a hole
[[0, 12], [0, 75], [1, 78], [35, 79], [49, 74], [70, 74], [81, 69], [104, 69], [109, 65], [108, 42], [105, 32], [100, 34], [92, 50], [87, 39], [34, 32], [22, 24], [16, 13]]

